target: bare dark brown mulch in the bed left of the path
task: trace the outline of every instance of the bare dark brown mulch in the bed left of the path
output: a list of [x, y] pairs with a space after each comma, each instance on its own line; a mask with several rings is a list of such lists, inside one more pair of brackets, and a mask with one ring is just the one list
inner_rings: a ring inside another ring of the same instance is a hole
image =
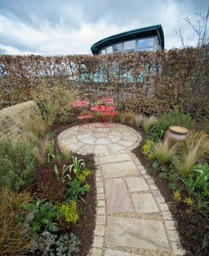
[[[61, 153], [57, 145], [57, 135], [60, 132], [63, 132], [63, 130], [71, 128], [72, 126], [75, 126], [75, 124], [73, 122], [69, 122], [68, 124], [54, 124], [50, 128], [50, 139], [54, 138], [54, 150], [56, 152], [56, 155]], [[79, 210], [79, 219], [76, 225], [69, 224], [65, 221], [63, 221], [62, 223], [57, 223], [59, 225], [59, 231], [57, 231], [57, 234], [71, 234], [71, 232], [75, 234], [81, 242], [79, 246], [79, 255], [86, 256], [88, 255], [89, 249], [91, 248], [91, 245], [93, 243], [93, 232], [95, 230], [97, 206], [97, 191], [95, 186], [94, 174], [95, 162], [93, 159], [93, 154], [84, 156], [73, 153], [72, 155], [78, 156], [78, 159], [83, 159], [86, 164], [86, 168], [89, 168], [89, 170], [93, 170], [92, 174], [88, 177], [87, 180], [88, 184], [90, 185], [90, 189], [89, 192], [86, 192], [86, 194], [84, 194], [82, 198], [78, 198], [78, 200], [76, 201]], [[57, 165], [58, 170], [61, 170], [64, 164], [69, 164], [69, 161], [57, 160], [55, 162], [52, 162], [51, 164], [47, 164], [44, 168], [37, 166], [37, 173], [42, 172], [42, 170], [46, 172], [54, 172], [53, 168], [55, 164]], [[71, 173], [71, 177], [72, 179], [74, 178], [73, 173]], [[33, 187], [33, 192], [36, 192], [38, 196], [41, 195], [41, 192], [39, 191], [39, 189], [37, 189], [37, 185]]]

